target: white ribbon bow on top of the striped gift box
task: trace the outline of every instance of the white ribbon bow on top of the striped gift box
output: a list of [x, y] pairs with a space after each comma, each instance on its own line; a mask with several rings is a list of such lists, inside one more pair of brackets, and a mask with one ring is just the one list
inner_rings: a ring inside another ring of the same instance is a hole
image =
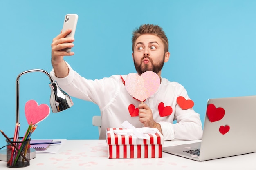
[[123, 130], [116, 129], [114, 130], [115, 134], [125, 135], [125, 136], [135, 135], [139, 139], [150, 139], [150, 137], [146, 136], [145, 133], [155, 134], [156, 132], [158, 132], [157, 128], [148, 128], [148, 127], [135, 128], [128, 121], [124, 121], [121, 125], [126, 129], [123, 129]]

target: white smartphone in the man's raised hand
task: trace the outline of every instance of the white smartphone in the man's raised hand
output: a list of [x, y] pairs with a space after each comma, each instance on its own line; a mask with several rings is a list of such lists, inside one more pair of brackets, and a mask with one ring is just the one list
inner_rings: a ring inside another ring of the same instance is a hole
[[[67, 15], [65, 15], [62, 31], [65, 31], [67, 29], [72, 29], [71, 33], [68, 34], [66, 37], [74, 38], [75, 32], [76, 32], [77, 20], [78, 20], [78, 15], [77, 14], [67, 14]], [[70, 53], [71, 48], [65, 48], [65, 49], [62, 49], [61, 51], [66, 51], [67, 53]]]

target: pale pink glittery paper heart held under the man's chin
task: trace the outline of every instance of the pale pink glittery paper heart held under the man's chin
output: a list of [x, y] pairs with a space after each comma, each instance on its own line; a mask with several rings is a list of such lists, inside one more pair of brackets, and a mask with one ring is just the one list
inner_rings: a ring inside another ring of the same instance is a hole
[[153, 71], [146, 71], [141, 76], [130, 73], [126, 77], [125, 86], [132, 97], [144, 101], [157, 91], [160, 86], [160, 79]]

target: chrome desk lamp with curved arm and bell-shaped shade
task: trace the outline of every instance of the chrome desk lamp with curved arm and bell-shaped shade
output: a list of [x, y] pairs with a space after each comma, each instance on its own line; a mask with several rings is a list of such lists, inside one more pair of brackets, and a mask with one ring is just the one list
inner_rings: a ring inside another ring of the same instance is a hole
[[[51, 88], [50, 105], [53, 113], [61, 112], [73, 106], [73, 102], [70, 96], [63, 90], [61, 90], [61, 88], [59, 88], [57, 82], [53, 80], [52, 76], [47, 71], [41, 69], [27, 70], [20, 73], [16, 79], [16, 123], [19, 123], [19, 79], [20, 76], [31, 72], [42, 72], [48, 75], [51, 81], [51, 83], [49, 83], [49, 86]], [[36, 150], [30, 148], [30, 159], [33, 159], [35, 157]], [[6, 150], [0, 151], [0, 161], [6, 161]]]

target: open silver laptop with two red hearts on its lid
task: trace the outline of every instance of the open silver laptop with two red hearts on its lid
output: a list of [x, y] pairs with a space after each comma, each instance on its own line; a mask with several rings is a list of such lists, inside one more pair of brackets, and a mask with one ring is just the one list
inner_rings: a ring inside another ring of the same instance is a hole
[[256, 152], [256, 96], [209, 99], [202, 141], [163, 152], [196, 161]]

